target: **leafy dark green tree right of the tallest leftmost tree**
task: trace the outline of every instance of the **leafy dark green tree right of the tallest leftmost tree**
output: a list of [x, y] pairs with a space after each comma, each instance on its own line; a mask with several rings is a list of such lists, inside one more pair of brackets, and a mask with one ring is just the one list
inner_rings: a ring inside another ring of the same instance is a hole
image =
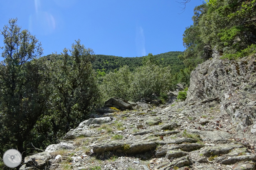
[[78, 40], [72, 44], [71, 50], [63, 49], [60, 57], [62, 60], [52, 63], [52, 84], [55, 93], [51, 97], [54, 114], [58, 114], [52, 124], [55, 131], [65, 127], [63, 133], [86, 119], [90, 111], [100, 104], [101, 96], [91, 65], [94, 60], [92, 49], [85, 48]]

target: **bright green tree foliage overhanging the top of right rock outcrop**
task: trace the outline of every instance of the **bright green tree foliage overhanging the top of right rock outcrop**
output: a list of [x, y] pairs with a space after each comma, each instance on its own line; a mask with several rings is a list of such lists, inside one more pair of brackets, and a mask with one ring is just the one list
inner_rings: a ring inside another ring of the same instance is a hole
[[248, 55], [244, 50], [256, 42], [255, 2], [206, 0], [206, 3], [195, 7], [192, 17], [194, 23], [183, 34], [186, 50], [178, 56], [185, 66], [193, 69], [210, 59], [213, 49], [228, 59]]

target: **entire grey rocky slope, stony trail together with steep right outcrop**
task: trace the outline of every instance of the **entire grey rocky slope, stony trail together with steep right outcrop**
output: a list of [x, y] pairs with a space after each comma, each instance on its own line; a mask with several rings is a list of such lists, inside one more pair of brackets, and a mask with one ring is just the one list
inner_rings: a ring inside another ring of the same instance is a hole
[[20, 170], [254, 170], [255, 72], [254, 57], [214, 55], [192, 72], [186, 101], [91, 115]]

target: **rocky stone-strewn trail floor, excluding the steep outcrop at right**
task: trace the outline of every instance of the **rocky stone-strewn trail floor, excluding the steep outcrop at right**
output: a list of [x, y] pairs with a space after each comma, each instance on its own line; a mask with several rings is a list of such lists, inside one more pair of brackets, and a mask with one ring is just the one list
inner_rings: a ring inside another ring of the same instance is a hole
[[42, 159], [27, 157], [25, 165], [40, 169], [48, 162], [55, 170], [253, 170], [256, 161], [254, 146], [236, 137], [215, 100], [154, 108], [147, 104], [91, 118], [39, 155]]

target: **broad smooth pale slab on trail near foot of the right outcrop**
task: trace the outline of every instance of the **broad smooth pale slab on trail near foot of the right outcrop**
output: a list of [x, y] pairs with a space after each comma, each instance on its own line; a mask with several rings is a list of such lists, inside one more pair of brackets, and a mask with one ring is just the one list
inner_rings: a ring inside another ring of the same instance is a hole
[[211, 141], [218, 139], [231, 139], [233, 137], [230, 133], [224, 131], [200, 131], [196, 129], [187, 129], [187, 131], [198, 134], [200, 137], [206, 137]]

